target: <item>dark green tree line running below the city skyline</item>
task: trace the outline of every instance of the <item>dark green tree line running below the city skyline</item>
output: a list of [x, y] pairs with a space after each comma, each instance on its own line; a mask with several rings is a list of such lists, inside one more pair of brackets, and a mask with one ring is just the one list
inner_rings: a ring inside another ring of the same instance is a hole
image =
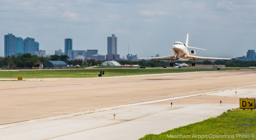
[[[102, 60], [94, 60], [89, 59], [87, 61], [83, 60], [68, 60], [69, 57], [67, 55], [51, 55], [50, 57], [38, 57], [37, 55], [31, 55], [30, 53], [16, 53], [11, 56], [0, 57], [0, 67], [8, 67], [11, 64], [16, 64], [16, 67], [35, 67], [36, 63], [43, 61], [64, 61], [68, 65], [101, 65], [104, 61]], [[139, 65], [139, 66], [148, 66], [148, 67], [163, 67], [170, 66], [169, 61], [166, 60], [140, 60], [140, 61], [128, 61], [125, 60], [116, 60], [120, 65]], [[176, 63], [187, 63], [192, 64], [193, 61], [175, 61]], [[196, 61], [198, 65], [225, 65], [226, 67], [250, 67], [256, 66], [256, 61], [242, 61], [236, 60], [233, 58], [232, 60], [216, 60], [212, 61]]]

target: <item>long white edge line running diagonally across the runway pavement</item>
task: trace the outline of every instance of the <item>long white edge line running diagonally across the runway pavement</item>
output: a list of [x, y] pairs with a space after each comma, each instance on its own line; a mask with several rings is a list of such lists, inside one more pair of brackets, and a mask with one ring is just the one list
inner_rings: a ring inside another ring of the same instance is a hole
[[253, 86], [256, 86], [256, 85], [236, 87], [236, 88], [231, 88], [231, 89], [222, 89], [222, 90], [216, 90], [216, 91], [210, 91], [210, 92], [204, 92], [204, 93], [196, 93], [196, 94], [191, 94], [191, 95], [185, 95], [185, 96], [179, 96], [179, 97], [171, 97], [171, 98], [164, 98], [164, 99], [158, 99], [158, 100], [152, 100], [152, 101], [132, 103], [132, 104], [127, 104], [127, 105], [118, 105], [118, 106], [112, 106], [112, 107], [100, 108], [100, 109], [95, 109], [95, 110], [88, 110], [88, 111], [83, 111], [83, 112], [58, 115], [58, 116], [41, 118], [41, 119], [35, 119], [35, 120], [29, 120], [29, 121], [14, 122], [14, 123], [0, 125], [0, 129], [8, 128], [8, 127], [14, 127], [14, 126], [20, 126], [20, 125], [25, 125], [25, 124], [30, 124], [30, 123], [42, 122], [42, 121], [50, 121], [50, 120], [55, 120], [55, 119], [62, 119], [62, 118], [67, 118], [67, 117], [72, 117], [72, 116], [77, 116], [77, 115], [83, 115], [83, 114], [87, 114], [87, 113], [107, 111], [107, 110], [124, 108], [124, 107], [135, 106], [135, 105], [145, 105], [145, 104], [151, 104], [151, 103], [157, 103], [157, 102], [164, 102], [164, 101], [170, 101], [170, 100], [175, 100], [175, 99], [188, 98], [188, 97], [194, 97], [194, 96], [209, 94], [209, 93], [212, 93], [212, 92], [227, 91], [227, 90], [232, 90], [232, 89], [242, 89], [242, 88], [253, 87]]

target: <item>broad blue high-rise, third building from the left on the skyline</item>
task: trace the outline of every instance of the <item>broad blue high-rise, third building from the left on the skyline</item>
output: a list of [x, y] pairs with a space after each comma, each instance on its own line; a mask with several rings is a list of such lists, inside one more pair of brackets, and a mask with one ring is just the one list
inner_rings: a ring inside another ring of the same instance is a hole
[[23, 40], [23, 53], [35, 54], [35, 39], [27, 37]]

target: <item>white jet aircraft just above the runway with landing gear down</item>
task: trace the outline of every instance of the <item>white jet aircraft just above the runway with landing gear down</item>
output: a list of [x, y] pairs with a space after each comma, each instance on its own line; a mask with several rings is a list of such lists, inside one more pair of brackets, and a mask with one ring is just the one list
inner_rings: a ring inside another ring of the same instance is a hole
[[[170, 66], [173, 66], [172, 60], [193, 60], [192, 66], [195, 66], [195, 61], [196, 60], [216, 60], [216, 59], [226, 59], [230, 60], [231, 58], [212, 58], [212, 57], [200, 57], [200, 56], [195, 56], [196, 51], [191, 50], [190, 52], [188, 51], [188, 48], [193, 48], [193, 49], [200, 49], [200, 48], [195, 48], [195, 47], [189, 47], [188, 46], [188, 34], [187, 34], [187, 41], [185, 43], [181, 42], [175, 42], [172, 45], [172, 51], [174, 55], [169, 55], [169, 56], [164, 56], [164, 57], [149, 57], [149, 58], [139, 58], [139, 59], [153, 59], [153, 60], [170, 60]], [[200, 50], [205, 50], [205, 49], [200, 49]]]

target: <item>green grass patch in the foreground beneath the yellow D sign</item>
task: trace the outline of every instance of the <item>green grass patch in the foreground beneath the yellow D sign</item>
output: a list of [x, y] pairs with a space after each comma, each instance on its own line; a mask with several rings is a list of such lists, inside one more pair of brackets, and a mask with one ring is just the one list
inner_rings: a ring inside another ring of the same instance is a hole
[[[239, 133], [240, 131], [244, 131], [244, 128], [238, 127], [237, 124], [254, 124], [254, 127], [248, 128], [246, 131], [252, 131], [252, 133], [248, 133], [246, 135], [250, 135], [250, 138], [246, 139], [255, 139], [252, 138], [251, 135], [256, 132], [256, 111], [251, 110], [235, 110], [230, 111], [228, 113], [224, 113], [216, 118], [209, 118], [207, 120], [189, 124], [187, 126], [174, 128], [172, 130], [166, 131], [159, 135], [148, 134], [139, 140], [167, 140], [167, 139], [186, 139], [186, 140], [194, 140], [194, 139], [204, 139], [204, 140], [219, 140], [219, 139], [245, 139], [236, 138], [236, 134], [245, 135], [246, 133]], [[167, 137], [173, 135], [190, 135], [190, 138], [171, 138]], [[207, 138], [195, 138], [194, 135], [207, 135]], [[209, 138], [209, 134], [212, 135], [234, 135], [234, 138]]]

